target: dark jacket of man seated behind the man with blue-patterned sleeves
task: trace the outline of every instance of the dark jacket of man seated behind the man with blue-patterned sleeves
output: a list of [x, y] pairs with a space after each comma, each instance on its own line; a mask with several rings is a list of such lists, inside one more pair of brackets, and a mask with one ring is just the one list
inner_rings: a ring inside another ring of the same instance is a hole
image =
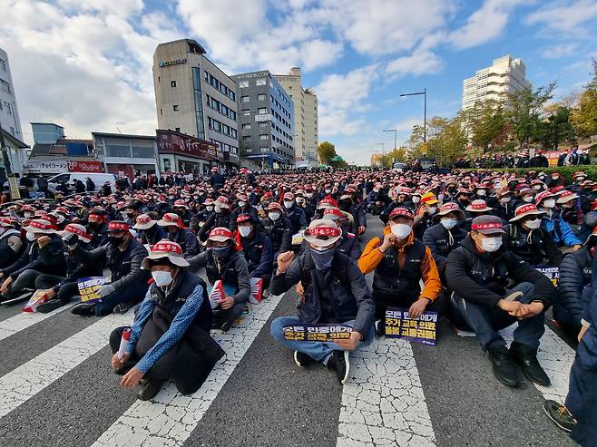
[[77, 245], [72, 255], [83, 264], [99, 266], [106, 264], [110, 268], [112, 286], [116, 290], [134, 288], [139, 284], [146, 287], [147, 280], [151, 276], [148, 270], [141, 268], [142, 260], [147, 256], [147, 250], [134, 238], [129, 240], [129, 245], [124, 251], [113, 247], [112, 244], [89, 251]]

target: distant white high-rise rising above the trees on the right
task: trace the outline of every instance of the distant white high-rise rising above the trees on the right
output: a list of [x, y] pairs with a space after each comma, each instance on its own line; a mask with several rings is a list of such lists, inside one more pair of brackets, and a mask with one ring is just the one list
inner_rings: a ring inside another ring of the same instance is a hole
[[526, 66], [522, 59], [513, 59], [510, 54], [494, 60], [490, 67], [477, 70], [475, 76], [463, 82], [463, 110], [470, 109], [475, 102], [504, 100], [507, 93], [529, 88]]

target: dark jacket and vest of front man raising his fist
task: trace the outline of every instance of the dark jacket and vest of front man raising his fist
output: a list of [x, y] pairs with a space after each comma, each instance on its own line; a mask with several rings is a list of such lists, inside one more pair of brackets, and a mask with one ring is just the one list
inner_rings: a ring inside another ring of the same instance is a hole
[[[269, 290], [282, 295], [302, 279], [305, 255], [296, 258], [288, 270], [271, 279]], [[349, 286], [343, 286], [336, 276], [335, 265], [346, 268]], [[344, 323], [355, 320], [354, 330], [365, 335], [370, 330], [375, 317], [376, 305], [369, 293], [365, 277], [357, 263], [336, 252], [332, 267], [327, 270], [309, 268], [311, 280], [305, 287], [305, 302], [298, 312], [304, 323]]]

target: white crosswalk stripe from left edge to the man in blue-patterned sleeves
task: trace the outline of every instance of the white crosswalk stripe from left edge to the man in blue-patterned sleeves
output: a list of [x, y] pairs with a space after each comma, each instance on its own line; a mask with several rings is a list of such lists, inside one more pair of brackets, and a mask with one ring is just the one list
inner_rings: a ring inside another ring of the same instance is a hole
[[114, 327], [130, 324], [131, 321], [132, 311], [125, 315], [105, 316], [92, 326], [0, 377], [0, 417], [15, 410], [20, 404], [102, 349]]

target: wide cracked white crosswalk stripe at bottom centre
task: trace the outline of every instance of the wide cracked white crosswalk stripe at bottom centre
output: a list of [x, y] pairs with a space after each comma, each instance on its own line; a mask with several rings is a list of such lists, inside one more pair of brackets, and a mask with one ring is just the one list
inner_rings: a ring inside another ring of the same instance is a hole
[[436, 445], [415, 356], [405, 340], [377, 338], [351, 355], [341, 404], [338, 447]]

